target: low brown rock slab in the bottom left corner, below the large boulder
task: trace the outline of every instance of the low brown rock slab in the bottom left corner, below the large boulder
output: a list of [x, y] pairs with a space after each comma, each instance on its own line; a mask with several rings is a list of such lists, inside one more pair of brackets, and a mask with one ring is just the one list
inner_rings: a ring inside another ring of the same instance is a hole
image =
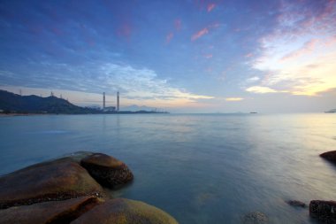
[[0, 210], [0, 224], [70, 223], [99, 205], [97, 197], [78, 197], [65, 201], [43, 202]]

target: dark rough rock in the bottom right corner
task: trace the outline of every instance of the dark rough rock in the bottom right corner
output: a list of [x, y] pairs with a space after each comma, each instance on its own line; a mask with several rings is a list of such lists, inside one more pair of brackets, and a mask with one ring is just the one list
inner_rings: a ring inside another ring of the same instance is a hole
[[310, 201], [309, 214], [325, 223], [336, 223], [336, 201]]

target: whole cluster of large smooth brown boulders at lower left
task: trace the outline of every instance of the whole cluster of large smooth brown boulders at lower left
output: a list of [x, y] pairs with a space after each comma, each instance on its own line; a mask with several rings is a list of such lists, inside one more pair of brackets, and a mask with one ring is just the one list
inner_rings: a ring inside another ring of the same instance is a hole
[[125, 163], [102, 153], [28, 166], [0, 178], [0, 224], [178, 223], [157, 207], [104, 190], [133, 179]]

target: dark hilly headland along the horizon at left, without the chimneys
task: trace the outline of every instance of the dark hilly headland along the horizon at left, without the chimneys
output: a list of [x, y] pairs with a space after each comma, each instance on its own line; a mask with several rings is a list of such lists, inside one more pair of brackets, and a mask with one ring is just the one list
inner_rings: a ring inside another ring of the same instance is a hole
[[71, 104], [55, 96], [20, 96], [0, 89], [0, 113], [3, 114], [131, 114], [131, 113], [168, 113], [156, 111], [106, 111]]

